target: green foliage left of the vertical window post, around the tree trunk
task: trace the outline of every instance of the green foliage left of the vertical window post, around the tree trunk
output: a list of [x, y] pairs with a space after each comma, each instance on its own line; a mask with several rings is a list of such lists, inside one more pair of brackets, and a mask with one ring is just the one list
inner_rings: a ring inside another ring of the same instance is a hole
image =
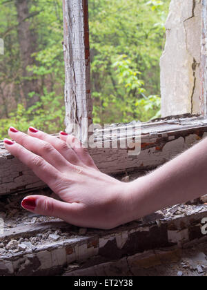
[[[64, 62], [61, 1], [38, 0], [31, 1], [31, 3], [30, 13], [39, 13], [37, 16], [29, 19], [31, 28], [35, 28], [38, 35], [38, 52], [34, 54], [36, 63], [28, 67], [27, 70], [32, 72], [33, 79], [39, 79], [41, 96], [39, 102], [26, 110], [25, 100], [18, 96], [19, 91], [15, 91], [17, 97], [10, 97], [10, 104], [14, 104], [15, 102], [16, 106], [8, 106], [8, 115], [0, 119], [0, 139], [7, 137], [7, 131], [10, 126], [17, 127], [24, 132], [28, 131], [29, 126], [37, 127], [48, 133], [55, 133], [64, 129]], [[5, 18], [7, 19], [8, 17], [7, 26], [17, 25], [16, 14], [14, 2], [1, 3], [0, 35], [3, 35], [3, 31], [7, 29]], [[6, 16], [3, 16], [4, 18], [2, 19], [1, 15]], [[10, 39], [16, 50], [12, 50]], [[2, 57], [2, 60], [0, 58], [0, 66], [4, 65], [6, 70], [3, 75], [4, 70], [1, 69], [0, 85], [6, 79], [8, 84], [18, 86], [21, 84], [22, 77], [17, 28], [14, 27], [4, 40], [6, 43], [6, 55]], [[10, 70], [12, 72], [14, 71], [17, 75], [15, 79], [11, 76], [11, 73], [10, 75], [8, 74]], [[32, 97], [32, 95], [34, 93], [31, 92], [28, 98]]]

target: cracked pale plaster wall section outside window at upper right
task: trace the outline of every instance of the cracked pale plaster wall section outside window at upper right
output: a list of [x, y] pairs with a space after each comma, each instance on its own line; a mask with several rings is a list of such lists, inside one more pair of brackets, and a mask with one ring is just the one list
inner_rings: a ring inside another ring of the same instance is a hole
[[201, 113], [201, 0], [172, 0], [166, 21], [166, 46], [161, 56], [163, 117]]

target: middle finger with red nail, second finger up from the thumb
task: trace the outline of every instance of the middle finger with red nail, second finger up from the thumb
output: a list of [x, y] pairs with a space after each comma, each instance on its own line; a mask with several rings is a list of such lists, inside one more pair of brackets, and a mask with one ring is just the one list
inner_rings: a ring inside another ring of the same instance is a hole
[[12, 127], [9, 129], [8, 134], [28, 151], [43, 157], [46, 162], [57, 168], [57, 170], [64, 172], [70, 166], [69, 162], [50, 143], [28, 136]]

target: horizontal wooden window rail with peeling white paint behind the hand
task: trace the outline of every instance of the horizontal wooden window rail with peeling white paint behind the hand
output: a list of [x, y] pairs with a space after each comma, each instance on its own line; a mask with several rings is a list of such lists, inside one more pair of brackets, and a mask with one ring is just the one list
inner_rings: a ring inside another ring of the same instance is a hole
[[[133, 126], [131, 126], [133, 128]], [[115, 129], [115, 128], [114, 128]], [[113, 130], [114, 130], [113, 129]], [[107, 174], [137, 171], [142, 173], [164, 164], [206, 137], [207, 119], [201, 117], [169, 119], [141, 125], [141, 153], [129, 155], [126, 148], [93, 148], [90, 154], [101, 171]], [[97, 131], [97, 141], [119, 143], [121, 136]], [[21, 193], [46, 186], [32, 171], [12, 157], [0, 142], [0, 195]]]

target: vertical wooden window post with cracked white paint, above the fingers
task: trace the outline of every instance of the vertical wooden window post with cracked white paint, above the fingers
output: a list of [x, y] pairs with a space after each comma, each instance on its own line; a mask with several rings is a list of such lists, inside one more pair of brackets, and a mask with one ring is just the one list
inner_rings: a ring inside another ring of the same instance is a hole
[[92, 124], [88, 0], [63, 0], [66, 131], [88, 144]]

